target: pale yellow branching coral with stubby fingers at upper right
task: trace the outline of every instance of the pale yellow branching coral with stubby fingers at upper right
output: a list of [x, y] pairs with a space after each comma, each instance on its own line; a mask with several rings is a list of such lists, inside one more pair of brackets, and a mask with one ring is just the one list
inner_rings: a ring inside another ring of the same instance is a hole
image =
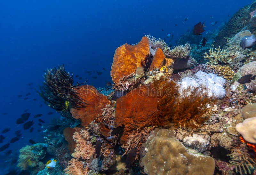
[[204, 53], [205, 54], [204, 58], [209, 59], [208, 63], [210, 63], [210, 64], [218, 64], [219, 61], [222, 61], [222, 62], [226, 63], [225, 58], [227, 58], [227, 51], [220, 49], [220, 46], [219, 46], [218, 49], [215, 48], [215, 50], [217, 52], [213, 51], [213, 49], [211, 48], [209, 50], [209, 54], [207, 54], [206, 52]]

